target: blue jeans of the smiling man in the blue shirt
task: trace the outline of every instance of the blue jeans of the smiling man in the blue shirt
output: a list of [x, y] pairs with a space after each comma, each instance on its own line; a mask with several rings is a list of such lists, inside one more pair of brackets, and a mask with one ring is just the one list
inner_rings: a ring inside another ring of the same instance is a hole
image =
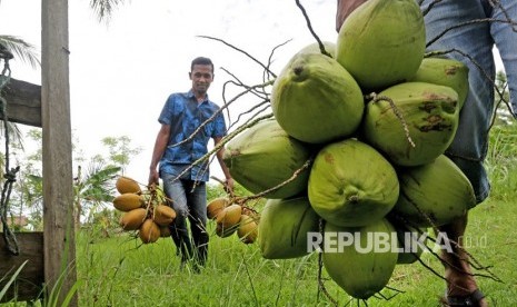
[[[163, 191], [172, 199], [176, 219], [169, 226], [170, 236], [178, 248], [181, 261], [193, 258], [199, 265], [205, 265], [208, 256], [207, 232], [207, 189], [202, 181], [177, 179], [176, 176], [162, 174]], [[190, 224], [192, 239], [187, 228]]]

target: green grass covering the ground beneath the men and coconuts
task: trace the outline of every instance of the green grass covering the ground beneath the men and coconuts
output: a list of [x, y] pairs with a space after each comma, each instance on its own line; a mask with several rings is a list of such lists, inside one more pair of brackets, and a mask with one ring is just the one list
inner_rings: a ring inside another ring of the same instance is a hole
[[[517, 210], [509, 201], [487, 200], [471, 210], [468, 250], [503, 279], [478, 277], [491, 306], [517, 303], [515, 220]], [[78, 238], [78, 279], [83, 283], [80, 306], [332, 306], [318, 294], [316, 254], [266, 260], [257, 245], [241, 244], [236, 236], [222, 239], [213, 235], [208, 265], [195, 274], [179, 269], [169, 238], [140, 246], [127, 234], [93, 241], [87, 235], [81, 232]], [[425, 254], [422, 260], [441, 273], [431, 254]], [[322, 277], [340, 306], [350, 301], [325, 271]], [[389, 300], [370, 298], [368, 306], [437, 306], [445, 289], [443, 279], [419, 263], [397, 266], [388, 286], [402, 293]], [[388, 298], [397, 291], [385, 289], [382, 295]]]

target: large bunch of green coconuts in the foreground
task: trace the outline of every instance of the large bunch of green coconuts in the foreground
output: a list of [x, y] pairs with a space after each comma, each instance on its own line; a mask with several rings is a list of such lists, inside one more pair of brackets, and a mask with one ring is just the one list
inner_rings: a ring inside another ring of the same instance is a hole
[[[470, 182], [444, 156], [468, 71], [425, 57], [425, 46], [416, 1], [369, 0], [336, 43], [325, 43], [331, 57], [311, 44], [289, 60], [271, 91], [275, 119], [243, 130], [223, 157], [246, 189], [270, 190], [258, 226], [265, 258], [308, 255], [321, 234], [316, 244], [328, 275], [367, 299], [397, 264], [421, 252], [358, 250], [369, 234], [401, 246], [400, 235], [448, 224], [475, 205]], [[360, 241], [347, 246], [351, 234]]]

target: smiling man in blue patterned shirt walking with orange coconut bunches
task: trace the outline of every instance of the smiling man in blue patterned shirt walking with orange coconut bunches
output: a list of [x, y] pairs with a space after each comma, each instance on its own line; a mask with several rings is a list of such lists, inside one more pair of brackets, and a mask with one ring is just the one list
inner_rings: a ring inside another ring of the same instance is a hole
[[[163, 191], [172, 199], [169, 206], [177, 212], [169, 228], [181, 257], [181, 268], [188, 260], [193, 260], [192, 268], [198, 270], [207, 261], [209, 239], [206, 229], [209, 170], [208, 159], [201, 158], [208, 152], [210, 138], [217, 146], [227, 128], [220, 108], [207, 95], [213, 81], [211, 60], [193, 59], [189, 78], [191, 89], [170, 95], [158, 118], [161, 128], [152, 152], [149, 185], [157, 185], [159, 178], [162, 179]], [[226, 188], [231, 190], [233, 179], [222, 161], [222, 150], [217, 151], [217, 159], [226, 177]]]

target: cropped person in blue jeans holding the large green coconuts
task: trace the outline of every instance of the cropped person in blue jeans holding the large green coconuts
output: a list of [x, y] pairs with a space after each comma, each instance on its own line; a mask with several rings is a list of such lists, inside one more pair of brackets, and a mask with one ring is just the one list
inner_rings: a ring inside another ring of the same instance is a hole
[[[359, 11], [365, 2], [390, 0], [338, 0], [336, 29], [342, 31], [350, 14]], [[400, 3], [404, 1], [399, 1]], [[446, 51], [446, 57], [464, 62], [468, 69], [469, 90], [459, 113], [459, 125], [454, 141], [446, 150], [449, 157], [473, 185], [476, 202], [484, 201], [490, 185], [484, 167], [488, 131], [494, 113], [495, 63], [493, 47], [501, 56], [507, 75], [510, 106], [517, 111], [517, 1], [515, 0], [424, 0], [417, 1], [424, 14], [427, 51]], [[384, 3], [382, 3], [384, 6]], [[352, 18], [350, 18], [352, 19]], [[495, 21], [487, 22], [488, 19]], [[473, 22], [478, 20], [479, 22]], [[360, 36], [359, 36], [360, 37]], [[337, 52], [339, 53], [339, 46]], [[382, 50], [371, 50], [382, 52]], [[376, 92], [382, 89], [375, 90]], [[440, 225], [437, 230], [463, 246], [467, 216]], [[453, 252], [443, 250], [447, 288], [443, 298], [446, 306], [488, 306], [485, 295], [474, 278], [469, 256], [464, 248], [454, 246]]]

